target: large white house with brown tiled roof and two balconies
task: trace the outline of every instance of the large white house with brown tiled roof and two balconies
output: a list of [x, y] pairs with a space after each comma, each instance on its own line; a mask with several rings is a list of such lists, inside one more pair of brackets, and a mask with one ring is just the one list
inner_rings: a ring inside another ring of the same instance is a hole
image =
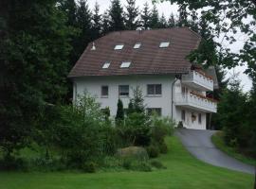
[[201, 37], [187, 27], [112, 32], [89, 43], [69, 77], [73, 100], [87, 91], [101, 108], [128, 107], [133, 89], [142, 90], [148, 112], [182, 121], [188, 129], [206, 129], [207, 113], [217, 104], [206, 92], [217, 87], [214, 68], [192, 66], [186, 59]]

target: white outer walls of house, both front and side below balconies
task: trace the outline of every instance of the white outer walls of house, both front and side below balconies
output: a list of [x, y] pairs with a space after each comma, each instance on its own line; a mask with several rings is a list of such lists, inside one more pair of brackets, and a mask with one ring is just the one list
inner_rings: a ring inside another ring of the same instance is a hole
[[[73, 99], [76, 94], [83, 94], [84, 91], [96, 97], [101, 103], [101, 108], [110, 108], [110, 114], [116, 115], [117, 104], [119, 99], [119, 85], [129, 85], [129, 97], [133, 96], [133, 88], [137, 85], [144, 95], [146, 108], [161, 108], [163, 116], [171, 117], [172, 114], [172, 84], [174, 76], [119, 76], [119, 77], [80, 77], [74, 79]], [[160, 96], [147, 96], [147, 84], [161, 84], [162, 94]], [[108, 86], [108, 97], [101, 97], [101, 86]], [[178, 80], [174, 85], [174, 94], [181, 93], [181, 83]], [[123, 107], [128, 108], [129, 97], [120, 96]], [[174, 106], [174, 120], [178, 123], [181, 121], [181, 110], [186, 111], [186, 121], [183, 122], [188, 129], [206, 129], [206, 113], [201, 112], [202, 122], [198, 123], [197, 111], [187, 108], [178, 108]], [[192, 122], [192, 112], [196, 115], [196, 120]]]

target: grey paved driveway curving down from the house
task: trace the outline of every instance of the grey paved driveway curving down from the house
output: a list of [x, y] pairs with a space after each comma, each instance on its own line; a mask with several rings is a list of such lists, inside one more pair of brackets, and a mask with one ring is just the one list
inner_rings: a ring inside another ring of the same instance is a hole
[[231, 170], [254, 174], [254, 167], [241, 163], [217, 149], [210, 141], [214, 130], [177, 129], [175, 134], [197, 159]]

